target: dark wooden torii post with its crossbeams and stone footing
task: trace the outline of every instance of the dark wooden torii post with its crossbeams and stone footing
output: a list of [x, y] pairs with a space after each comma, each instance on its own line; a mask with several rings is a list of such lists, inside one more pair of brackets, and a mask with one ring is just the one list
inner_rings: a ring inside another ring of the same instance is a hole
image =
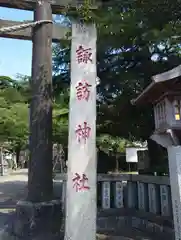
[[[69, 3], [75, 7], [81, 1], [72, 3], [71, 0], [53, 0], [51, 4], [49, 0], [0, 0], [0, 7], [34, 11], [34, 22], [37, 23], [33, 28], [18, 29], [17, 27], [17, 31], [1, 31], [5, 27], [13, 29], [15, 25], [23, 25], [28, 22], [0, 20], [0, 37], [32, 40], [33, 42], [29, 139], [31, 160], [28, 196], [27, 202], [19, 202], [17, 205], [20, 219], [15, 226], [21, 224], [14, 228], [17, 231], [16, 234], [21, 234], [24, 239], [33, 231], [33, 235], [37, 236], [43, 232], [44, 239], [52, 240], [54, 238], [52, 235], [48, 237], [48, 233], [52, 231], [57, 233], [60, 227], [60, 203], [51, 202], [53, 198], [52, 171], [50, 171], [50, 169], [52, 170], [51, 44], [52, 40], [54, 42], [67, 40], [66, 34], [69, 29], [52, 24], [52, 13], [60, 13], [60, 10]], [[46, 204], [46, 202], [48, 203]], [[38, 221], [36, 221], [37, 217]]]

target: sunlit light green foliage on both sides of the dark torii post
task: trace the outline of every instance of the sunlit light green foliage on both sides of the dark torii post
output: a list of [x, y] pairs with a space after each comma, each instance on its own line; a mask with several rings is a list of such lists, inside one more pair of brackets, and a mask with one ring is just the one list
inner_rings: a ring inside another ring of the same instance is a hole
[[[13, 80], [0, 76], [0, 141], [12, 150], [28, 146], [30, 77]], [[67, 92], [67, 90], [66, 90]], [[53, 142], [67, 144], [68, 92], [57, 93], [53, 101]]]

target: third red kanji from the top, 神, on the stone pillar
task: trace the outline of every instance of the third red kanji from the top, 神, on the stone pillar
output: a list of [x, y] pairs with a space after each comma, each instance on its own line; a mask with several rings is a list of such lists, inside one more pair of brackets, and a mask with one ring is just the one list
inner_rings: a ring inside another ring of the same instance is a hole
[[75, 130], [75, 133], [77, 135], [78, 142], [80, 143], [81, 140], [86, 143], [87, 139], [90, 137], [91, 128], [88, 126], [87, 122], [83, 123], [83, 126], [80, 124], [78, 125], [78, 128]]

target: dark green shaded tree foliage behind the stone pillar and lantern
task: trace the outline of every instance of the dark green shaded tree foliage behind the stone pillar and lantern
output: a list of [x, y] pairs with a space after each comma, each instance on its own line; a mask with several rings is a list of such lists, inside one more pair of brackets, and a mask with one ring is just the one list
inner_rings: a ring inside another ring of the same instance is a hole
[[[115, 2], [87, 13], [98, 32], [98, 134], [148, 139], [154, 128], [152, 109], [138, 109], [130, 100], [151, 76], [179, 64], [180, 4], [178, 0]], [[71, 10], [67, 16], [86, 20], [84, 13]], [[70, 44], [58, 44], [53, 59], [55, 85], [65, 86], [70, 82]]]

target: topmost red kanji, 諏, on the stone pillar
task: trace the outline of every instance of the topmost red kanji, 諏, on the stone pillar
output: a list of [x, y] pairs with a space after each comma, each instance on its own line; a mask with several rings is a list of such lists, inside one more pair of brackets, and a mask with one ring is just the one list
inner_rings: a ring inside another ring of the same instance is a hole
[[79, 45], [78, 49], [76, 50], [77, 54], [77, 62], [78, 63], [92, 63], [92, 49], [91, 48], [84, 48], [82, 45]]

